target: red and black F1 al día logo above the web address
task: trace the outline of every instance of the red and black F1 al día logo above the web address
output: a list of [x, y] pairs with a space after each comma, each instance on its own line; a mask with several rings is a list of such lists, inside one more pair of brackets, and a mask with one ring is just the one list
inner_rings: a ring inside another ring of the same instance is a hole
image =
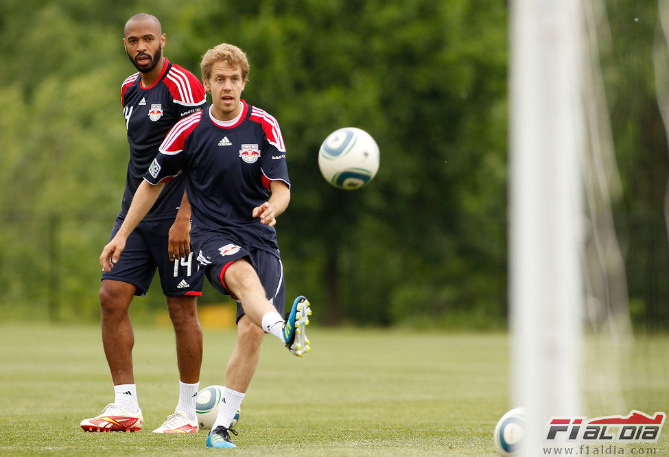
[[648, 416], [631, 410], [627, 416], [551, 417], [545, 441], [586, 443], [655, 443], [662, 432], [666, 414]]

